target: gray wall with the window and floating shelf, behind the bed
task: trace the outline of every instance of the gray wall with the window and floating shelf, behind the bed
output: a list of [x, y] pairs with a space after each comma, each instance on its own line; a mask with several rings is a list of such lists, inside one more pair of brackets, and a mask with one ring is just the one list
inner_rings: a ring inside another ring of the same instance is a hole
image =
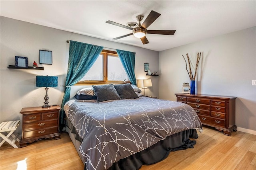
[[[44, 27], [10, 18], [0, 18], [1, 27], [1, 60], [0, 60], [0, 121], [20, 119], [23, 107], [42, 106], [45, 89], [36, 88], [36, 75], [58, 76], [58, 87], [49, 88], [49, 104], [61, 105], [68, 66], [69, 44], [66, 40], [80, 41], [113, 49], [121, 49], [136, 53], [135, 74], [137, 79], [152, 79], [153, 87], [148, 95], [158, 96], [158, 77], [146, 76], [144, 63], [150, 69], [158, 70], [158, 52], [113, 41], [107, 41], [58, 29]], [[39, 64], [39, 49], [52, 51], [52, 65]], [[28, 65], [36, 61], [44, 70], [8, 69], [15, 65], [15, 56], [28, 57]], [[72, 94], [83, 86], [73, 86]], [[18, 129], [21, 134], [21, 126]]]

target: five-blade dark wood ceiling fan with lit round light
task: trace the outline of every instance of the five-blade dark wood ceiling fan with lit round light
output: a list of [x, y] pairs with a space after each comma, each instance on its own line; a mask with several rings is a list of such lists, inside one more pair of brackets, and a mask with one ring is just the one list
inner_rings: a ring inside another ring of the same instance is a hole
[[133, 34], [135, 37], [140, 38], [143, 44], [148, 44], [149, 41], [145, 36], [146, 33], [148, 33], [148, 34], [161, 34], [161, 35], [174, 35], [174, 33], [176, 31], [176, 30], [147, 30], [147, 27], [149, 25], [151, 25], [160, 15], [161, 14], [159, 14], [158, 12], [155, 12], [155, 11], [152, 10], [149, 13], [148, 17], [145, 19], [145, 21], [142, 24], [140, 24], [140, 21], [142, 21], [144, 16], [136, 16], [136, 19], [139, 21], [139, 24], [138, 24], [137, 27], [134, 27], [134, 28], [126, 26], [126, 25], [122, 25], [120, 23], [116, 23], [116, 22], [113, 22], [113, 21], [109, 21], [109, 20], [106, 21], [106, 23], [110, 23], [112, 25], [116, 25], [116, 26], [119, 26], [119, 27], [123, 27], [123, 28], [132, 30], [132, 33], [122, 35], [120, 37], [116, 37], [116, 38], [113, 38], [113, 39], [120, 39], [120, 38], [127, 37], [127, 36]]

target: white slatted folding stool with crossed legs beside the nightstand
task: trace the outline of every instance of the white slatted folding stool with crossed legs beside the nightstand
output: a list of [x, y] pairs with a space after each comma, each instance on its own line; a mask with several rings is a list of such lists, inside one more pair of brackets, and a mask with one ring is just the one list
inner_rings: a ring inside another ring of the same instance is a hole
[[[13, 132], [17, 129], [17, 127], [20, 125], [20, 121], [5, 121], [0, 124], [0, 137], [2, 138], [2, 141], [0, 143], [0, 147], [4, 144], [4, 142], [8, 142], [12, 147], [18, 148], [15, 144], [16, 141], [20, 142], [20, 139], [18, 138], [18, 134], [14, 135]], [[7, 135], [4, 135], [4, 133], [7, 133]]]

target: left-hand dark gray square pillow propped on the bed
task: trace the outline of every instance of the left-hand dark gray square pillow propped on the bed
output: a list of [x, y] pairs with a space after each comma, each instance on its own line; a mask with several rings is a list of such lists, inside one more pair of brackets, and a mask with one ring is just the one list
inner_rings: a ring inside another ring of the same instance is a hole
[[116, 92], [113, 84], [92, 86], [97, 96], [97, 102], [103, 102], [106, 100], [118, 100], [121, 99]]

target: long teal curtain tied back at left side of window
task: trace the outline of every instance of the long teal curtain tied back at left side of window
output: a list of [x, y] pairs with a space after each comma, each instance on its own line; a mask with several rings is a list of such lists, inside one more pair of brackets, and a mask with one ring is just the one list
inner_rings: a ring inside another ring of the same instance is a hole
[[70, 86], [73, 86], [84, 77], [100, 55], [102, 49], [103, 47], [101, 46], [70, 41], [66, 88], [61, 104], [60, 129], [65, 126], [63, 106], [70, 99]]

